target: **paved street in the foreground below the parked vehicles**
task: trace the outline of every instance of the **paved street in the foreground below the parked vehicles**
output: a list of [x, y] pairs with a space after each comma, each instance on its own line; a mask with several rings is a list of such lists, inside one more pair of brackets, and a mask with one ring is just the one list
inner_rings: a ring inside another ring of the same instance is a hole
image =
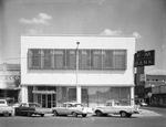
[[82, 118], [53, 117], [0, 117], [0, 127], [166, 127], [166, 113], [143, 109], [142, 114], [131, 118], [122, 118], [113, 115], [107, 117], [87, 116]]

